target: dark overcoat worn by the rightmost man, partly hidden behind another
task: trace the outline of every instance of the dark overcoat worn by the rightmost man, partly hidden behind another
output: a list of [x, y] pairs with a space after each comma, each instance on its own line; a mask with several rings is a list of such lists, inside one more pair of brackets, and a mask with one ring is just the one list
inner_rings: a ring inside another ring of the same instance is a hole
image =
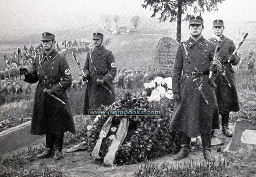
[[[221, 74], [217, 75], [215, 79], [215, 83], [217, 85], [216, 97], [219, 106], [219, 114], [228, 114], [230, 111], [236, 112], [239, 110], [235, 73], [232, 65], [237, 65], [240, 61], [240, 58], [236, 54], [235, 61], [232, 63], [227, 63], [227, 60], [229, 60], [229, 55], [234, 52], [236, 47], [234, 42], [229, 38], [226, 38], [224, 35], [222, 35], [221, 39], [222, 42], [221, 48], [219, 50], [219, 60], [223, 65], [223, 71], [225, 70], [225, 75], [231, 87], [229, 87], [227, 81]], [[211, 38], [208, 40], [215, 44], [217, 43], [216, 39]]]

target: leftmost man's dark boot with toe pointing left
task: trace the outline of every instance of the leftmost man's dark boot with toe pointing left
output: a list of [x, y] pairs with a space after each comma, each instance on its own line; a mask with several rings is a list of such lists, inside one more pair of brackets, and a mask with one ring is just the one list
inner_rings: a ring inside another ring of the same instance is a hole
[[51, 134], [51, 133], [46, 134], [45, 151], [42, 154], [37, 155], [37, 158], [50, 157], [54, 151], [54, 141], [55, 141], [54, 134]]

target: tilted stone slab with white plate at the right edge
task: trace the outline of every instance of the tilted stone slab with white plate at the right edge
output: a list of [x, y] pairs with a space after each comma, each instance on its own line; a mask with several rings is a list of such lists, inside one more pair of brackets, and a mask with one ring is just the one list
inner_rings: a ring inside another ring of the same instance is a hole
[[256, 125], [252, 125], [252, 122], [244, 120], [236, 121], [229, 150], [238, 151], [249, 146], [256, 147], [256, 133], [254, 130], [256, 130]]

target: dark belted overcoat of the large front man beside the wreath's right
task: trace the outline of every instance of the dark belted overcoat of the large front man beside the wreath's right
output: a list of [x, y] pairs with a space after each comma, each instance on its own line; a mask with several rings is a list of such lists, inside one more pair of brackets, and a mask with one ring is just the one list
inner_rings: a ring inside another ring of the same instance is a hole
[[[185, 54], [183, 43], [185, 43], [193, 64]], [[181, 130], [187, 133], [188, 137], [197, 137], [199, 134], [211, 134], [212, 126], [214, 129], [219, 129], [219, 113], [214, 84], [208, 79], [208, 75], [192, 77], [184, 74], [185, 71], [195, 72], [195, 67], [198, 70], [196, 72], [209, 71], [214, 51], [214, 43], [207, 41], [203, 36], [198, 41], [189, 38], [177, 48], [173, 67], [172, 89], [173, 93], [180, 93], [181, 102], [175, 103], [170, 128]], [[209, 105], [206, 104], [202, 95], [196, 89], [196, 83], [200, 84], [201, 79], [203, 83], [202, 90]], [[217, 123], [212, 125], [212, 119]]]

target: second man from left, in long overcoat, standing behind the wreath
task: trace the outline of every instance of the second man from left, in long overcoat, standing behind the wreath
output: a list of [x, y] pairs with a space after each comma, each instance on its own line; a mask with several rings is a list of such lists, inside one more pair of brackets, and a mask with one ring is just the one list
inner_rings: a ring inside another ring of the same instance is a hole
[[113, 79], [117, 70], [114, 55], [103, 46], [103, 34], [94, 32], [93, 41], [94, 48], [87, 53], [83, 68], [83, 81], [88, 80], [84, 95], [84, 115], [89, 114], [88, 110], [97, 110], [115, 101]]

